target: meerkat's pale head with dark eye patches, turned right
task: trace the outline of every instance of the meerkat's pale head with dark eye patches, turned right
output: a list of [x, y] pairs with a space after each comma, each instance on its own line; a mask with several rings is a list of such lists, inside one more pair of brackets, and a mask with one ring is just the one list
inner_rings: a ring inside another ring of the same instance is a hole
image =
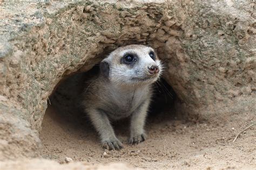
[[118, 86], [151, 84], [162, 69], [154, 49], [144, 45], [119, 47], [100, 63], [101, 73]]

